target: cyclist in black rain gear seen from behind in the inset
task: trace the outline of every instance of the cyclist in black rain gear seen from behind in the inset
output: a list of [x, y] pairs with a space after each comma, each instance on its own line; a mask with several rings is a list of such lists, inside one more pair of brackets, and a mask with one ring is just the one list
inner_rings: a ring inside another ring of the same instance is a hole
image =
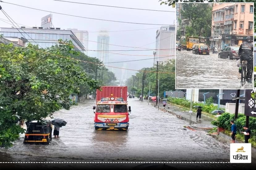
[[248, 83], [252, 83], [252, 71], [253, 71], [253, 44], [251, 43], [251, 37], [246, 37], [246, 41], [243, 42], [239, 48], [238, 55], [240, 62], [246, 60], [248, 74], [246, 80]]

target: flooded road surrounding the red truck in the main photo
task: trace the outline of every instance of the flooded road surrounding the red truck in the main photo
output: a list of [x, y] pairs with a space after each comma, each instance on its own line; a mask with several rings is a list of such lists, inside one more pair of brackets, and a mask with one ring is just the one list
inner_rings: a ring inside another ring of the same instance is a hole
[[[147, 102], [129, 99], [127, 131], [96, 131], [94, 100], [54, 113], [67, 124], [49, 145], [23, 144], [24, 134], [9, 149], [0, 148], [2, 162], [229, 162], [229, 145], [188, 122], [158, 111]], [[233, 164], [234, 165], [234, 164]], [[237, 166], [237, 164], [235, 164]], [[208, 166], [208, 164], [202, 164]], [[225, 164], [230, 167], [231, 164]]]

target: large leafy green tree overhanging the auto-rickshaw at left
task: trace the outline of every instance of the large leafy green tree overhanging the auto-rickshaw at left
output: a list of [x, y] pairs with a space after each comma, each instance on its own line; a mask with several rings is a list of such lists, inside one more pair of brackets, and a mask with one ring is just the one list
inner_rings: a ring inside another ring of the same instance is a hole
[[48, 49], [13, 47], [0, 44], [0, 147], [11, 147], [24, 129], [16, 125], [21, 119], [41, 120], [61, 108], [69, 109], [69, 96], [79, 93], [79, 85], [90, 79], [71, 59], [76, 54], [72, 42], [62, 42]]

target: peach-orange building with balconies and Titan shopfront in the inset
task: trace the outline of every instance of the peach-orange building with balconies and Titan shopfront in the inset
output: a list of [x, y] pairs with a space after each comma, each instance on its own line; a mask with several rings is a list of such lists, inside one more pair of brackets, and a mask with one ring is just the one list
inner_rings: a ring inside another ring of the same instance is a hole
[[211, 46], [241, 45], [247, 36], [253, 40], [253, 3], [214, 3]]

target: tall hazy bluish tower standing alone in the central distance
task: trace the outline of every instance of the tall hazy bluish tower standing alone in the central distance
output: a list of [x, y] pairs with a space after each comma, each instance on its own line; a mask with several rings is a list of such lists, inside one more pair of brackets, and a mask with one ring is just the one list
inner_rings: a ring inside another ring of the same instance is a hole
[[97, 58], [106, 63], [109, 61], [109, 34], [107, 31], [100, 31], [97, 39]]

